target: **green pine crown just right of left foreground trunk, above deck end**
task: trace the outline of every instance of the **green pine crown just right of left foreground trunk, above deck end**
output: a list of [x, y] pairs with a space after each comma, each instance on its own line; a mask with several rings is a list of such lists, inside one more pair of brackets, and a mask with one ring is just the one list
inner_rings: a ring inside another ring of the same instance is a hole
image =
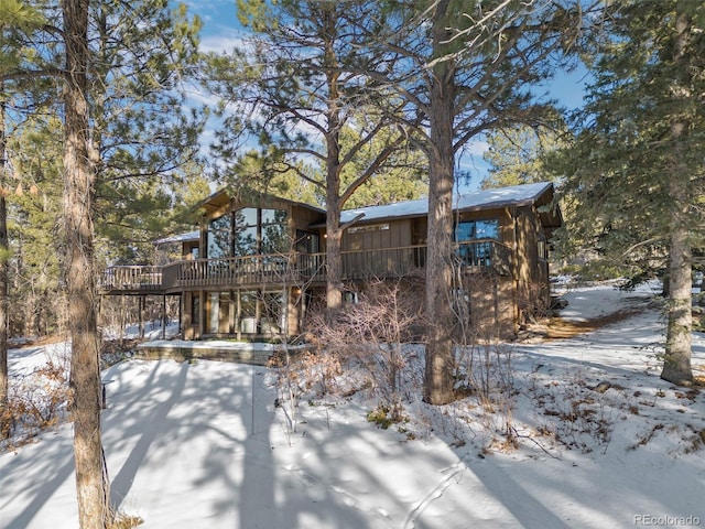
[[147, 263], [152, 241], [174, 229], [181, 190], [202, 172], [204, 115], [186, 110], [184, 87], [200, 22], [167, 0], [101, 2], [90, 15], [96, 229], [109, 241], [101, 259]]

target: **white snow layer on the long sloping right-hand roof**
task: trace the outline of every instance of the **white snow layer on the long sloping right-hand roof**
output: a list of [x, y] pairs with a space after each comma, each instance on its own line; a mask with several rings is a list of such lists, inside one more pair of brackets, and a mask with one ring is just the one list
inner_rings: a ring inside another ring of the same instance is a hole
[[[481, 190], [466, 193], [454, 197], [454, 209], [489, 209], [495, 207], [507, 207], [525, 205], [536, 201], [553, 184], [551, 182], [539, 182], [535, 184], [512, 185], [496, 190]], [[414, 217], [429, 213], [429, 199], [399, 202], [384, 206], [359, 207], [357, 209], [346, 209], [340, 214], [341, 223], [349, 223], [360, 214], [365, 216], [361, 222], [378, 220], [391, 217]]]

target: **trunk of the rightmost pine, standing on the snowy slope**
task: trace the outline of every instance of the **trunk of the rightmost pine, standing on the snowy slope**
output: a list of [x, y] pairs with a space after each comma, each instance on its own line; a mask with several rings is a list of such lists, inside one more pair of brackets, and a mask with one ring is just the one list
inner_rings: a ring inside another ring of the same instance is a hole
[[[676, 36], [674, 63], [680, 64], [680, 77], [674, 79], [675, 98], [690, 97], [691, 68], [687, 64], [686, 47], [692, 24], [685, 13], [680, 13], [675, 23]], [[691, 367], [693, 291], [691, 287], [692, 253], [688, 241], [690, 216], [690, 171], [685, 160], [685, 139], [688, 122], [676, 117], [671, 123], [673, 162], [669, 174], [671, 205], [671, 248], [669, 255], [669, 323], [666, 330], [665, 355], [661, 378], [679, 386], [693, 384]]]

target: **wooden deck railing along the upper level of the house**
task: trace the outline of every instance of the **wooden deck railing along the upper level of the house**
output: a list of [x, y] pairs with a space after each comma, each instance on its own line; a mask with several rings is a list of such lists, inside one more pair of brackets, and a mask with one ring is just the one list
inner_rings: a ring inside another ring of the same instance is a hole
[[[508, 274], [511, 250], [496, 240], [456, 245], [456, 263], [468, 272]], [[343, 279], [409, 276], [426, 264], [426, 246], [341, 252]], [[261, 284], [303, 284], [326, 280], [325, 253], [242, 256], [177, 261], [164, 267], [110, 267], [100, 279], [106, 291], [173, 291]]]

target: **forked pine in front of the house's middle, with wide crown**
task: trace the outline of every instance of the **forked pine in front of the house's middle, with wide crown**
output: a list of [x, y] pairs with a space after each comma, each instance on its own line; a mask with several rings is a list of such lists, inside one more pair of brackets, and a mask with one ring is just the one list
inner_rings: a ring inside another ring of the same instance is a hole
[[[270, 9], [271, 8], [271, 9]], [[326, 222], [326, 303], [330, 311], [343, 300], [343, 260], [340, 245], [344, 227], [340, 212], [356, 191], [378, 171], [404, 141], [398, 127], [373, 143], [389, 128], [387, 107], [370, 104], [386, 98], [380, 89], [369, 90], [365, 73], [379, 57], [362, 53], [356, 45], [355, 25], [372, 9], [370, 2], [283, 2], [238, 1], [241, 22], [253, 31], [241, 50], [230, 56], [212, 56], [207, 87], [231, 104], [237, 114], [226, 116], [218, 154], [235, 165], [238, 149], [254, 137], [268, 159], [284, 171], [299, 175], [325, 193]], [[358, 110], [366, 119], [357, 119]], [[352, 121], [358, 137], [346, 143], [341, 134]], [[248, 136], [249, 134], [249, 136]], [[362, 165], [362, 160], [366, 163]], [[345, 168], [357, 163], [358, 174], [343, 181]], [[321, 174], [311, 168], [323, 166]], [[269, 177], [263, 174], [260, 177]]]

